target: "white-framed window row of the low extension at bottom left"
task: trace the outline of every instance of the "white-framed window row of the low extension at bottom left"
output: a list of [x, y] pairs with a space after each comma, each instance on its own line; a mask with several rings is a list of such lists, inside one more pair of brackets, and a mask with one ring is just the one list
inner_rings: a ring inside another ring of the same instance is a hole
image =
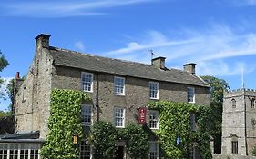
[[0, 144], [0, 159], [39, 159], [40, 144]]

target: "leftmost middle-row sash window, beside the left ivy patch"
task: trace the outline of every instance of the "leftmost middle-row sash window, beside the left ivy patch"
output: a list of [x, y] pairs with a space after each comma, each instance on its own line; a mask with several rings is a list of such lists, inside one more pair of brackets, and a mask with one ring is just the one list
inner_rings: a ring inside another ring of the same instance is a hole
[[82, 104], [82, 124], [90, 126], [92, 124], [92, 105]]

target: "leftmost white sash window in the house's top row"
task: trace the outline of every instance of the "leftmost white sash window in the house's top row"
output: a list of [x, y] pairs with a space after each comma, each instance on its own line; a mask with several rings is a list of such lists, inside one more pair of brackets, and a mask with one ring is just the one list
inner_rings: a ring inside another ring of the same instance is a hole
[[82, 73], [82, 90], [85, 92], [93, 92], [93, 74]]

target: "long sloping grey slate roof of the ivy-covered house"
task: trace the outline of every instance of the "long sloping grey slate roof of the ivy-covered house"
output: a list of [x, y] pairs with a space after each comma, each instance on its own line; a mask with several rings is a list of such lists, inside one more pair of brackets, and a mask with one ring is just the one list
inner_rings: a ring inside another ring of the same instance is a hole
[[54, 65], [73, 67], [92, 72], [209, 87], [197, 75], [191, 75], [183, 70], [161, 70], [155, 65], [146, 65], [97, 55], [82, 54], [52, 46], [49, 47], [49, 52], [54, 58]]

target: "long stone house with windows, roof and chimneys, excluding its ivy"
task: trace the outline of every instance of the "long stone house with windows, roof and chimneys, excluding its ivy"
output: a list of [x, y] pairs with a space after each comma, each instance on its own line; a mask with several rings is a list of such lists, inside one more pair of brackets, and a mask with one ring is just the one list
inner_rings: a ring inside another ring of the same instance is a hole
[[[15, 129], [40, 131], [46, 139], [50, 93], [54, 88], [85, 91], [92, 101], [82, 105], [82, 117], [90, 126], [96, 118], [123, 128], [138, 123], [134, 114], [149, 101], [168, 100], [210, 104], [209, 86], [195, 75], [195, 64], [184, 70], [169, 69], [165, 58], [152, 65], [87, 55], [49, 45], [50, 35], [36, 36], [36, 56], [23, 84], [15, 95]], [[97, 112], [99, 108], [99, 112]], [[147, 111], [151, 129], [159, 128], [159, 112]], [[125, 144], [118, 147], [119, 158], [128, 158]], [[82, 142], [81, 158], [90, 158], [90, 148]], [[159, 144], [150, 141], [149, 158], [159, 158]]]

